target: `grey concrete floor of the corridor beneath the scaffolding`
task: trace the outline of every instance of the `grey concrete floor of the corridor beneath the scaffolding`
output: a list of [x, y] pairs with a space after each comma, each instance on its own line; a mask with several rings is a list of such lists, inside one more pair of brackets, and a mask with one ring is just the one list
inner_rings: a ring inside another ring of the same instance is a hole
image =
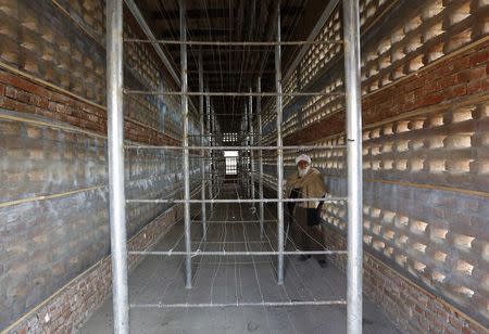
[[[222, 197], [236, 197], [226, 185]], [[192, 224], [192, 249], [273, 251], [276, 224], [273, 215], [265, 237], [249, 205], [221, 204], [208, 218], [208, 239]], [[184, 226], [176, 223], [155, 251], [184, 251]], [[293, 251], [292, 242], [288, 249]], [[149, 256], [129, 275], [130, 303], [137, 304], [238, 304], [262, 301], [313, 301], [344, 299], [346, 275], [333, 266], [321, 268], [314, 259], [286, 257], [285, 284], [276, 284], [276, 256], [196, 256], [193, 287], [185, 288], [183, 256]], [[131, 308], [131, 333], [346, 333], [344, 305], [336, 306], [227, 306], [184, 308]], [[112, 298], [86, 323], [82, 333], [112, 333]], [[386, 316], [364, 298], [364, 333], [400, 333]]]

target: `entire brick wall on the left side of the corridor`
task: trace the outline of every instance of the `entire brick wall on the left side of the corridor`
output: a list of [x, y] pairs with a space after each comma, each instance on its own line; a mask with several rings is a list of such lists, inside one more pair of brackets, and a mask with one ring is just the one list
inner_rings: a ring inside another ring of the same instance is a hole
[[[85, 284], [84, 278], [100, 274], [96, 264], [104, 258], [102, 267], [110, 264], [103, 3], [0, 0], [0, 330], [54, 293], [71, 300], [60, 288], [75, 278]], [[130, 17], [124, 34], [142, 37]], [[127, 87], [175, 89], [150, 48], [131, 43], [124, 51]], [[127, 143], [179, 144], [178, 111], [177, 99], [128, 97]], [[198, 134], [196, 124], [190, 123], [191, 134]], [[199, 172], [199, 160], [191, 159], [193, 188]], [[125, 179], [128, 198], [178, 197], [181, 156], [128, 150]], [[126, 209], [134, 237], [168, 206]], [[147, 242], [138, 241], [138, 247]], [[106, 268], [101, 272], [110, 278]], [[76, 304], [87, 312], [82, 318], [109, 291], [110, 281], [103, 284], [95, 301], [77, 299], [89, 303]], [[66, 325], [83, 320], [74, 308], [63, 306], [63, 317], [74, 313]]]

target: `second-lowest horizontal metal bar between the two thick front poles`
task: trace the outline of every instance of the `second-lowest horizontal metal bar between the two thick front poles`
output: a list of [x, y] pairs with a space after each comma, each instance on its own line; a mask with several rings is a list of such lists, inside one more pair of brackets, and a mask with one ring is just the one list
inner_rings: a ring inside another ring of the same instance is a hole
[[180, 251], [129, 251], [127, 252], [129, 255], [164, 255], [164, 256], [172, 256], [172, 255], [191, 255], [193, 256], [268, 256], [268, 255], [346, 255], [347, 251], [286, 251], [286, 252], [201, 252], [201, 251], [193, 251], [193, 252], [180, 252]]

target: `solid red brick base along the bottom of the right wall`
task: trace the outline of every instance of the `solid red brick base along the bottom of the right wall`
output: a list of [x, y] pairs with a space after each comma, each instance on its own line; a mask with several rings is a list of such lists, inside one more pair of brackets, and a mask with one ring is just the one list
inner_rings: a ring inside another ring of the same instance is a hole
[[[346, 249], [347, 241], [338, 229], [323, 226], [325, 242], [331, 249]], [[411, 333], [487, 333], [487, 327], [461, 312], [437, 294], [419, 286], [393, 266], [380, 261], [365, 248], [363, 284], [366, 296], [387, 316]], [[331, 256], [335, 266], [346, 270], [346, 257]]]

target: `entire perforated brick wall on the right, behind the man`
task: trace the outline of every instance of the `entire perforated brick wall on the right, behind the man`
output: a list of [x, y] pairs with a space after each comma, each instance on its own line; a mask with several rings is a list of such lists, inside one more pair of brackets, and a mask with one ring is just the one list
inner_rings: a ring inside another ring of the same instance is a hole
[[[485, 332], [489, 4], [387, 2], [361, 1], [365, 292], [413, 332]], [[366, 12], [381, 16], [368, 23]], [[341, 38], [339, 17], [337, 9], [318, 38]], [[343, 91], [341, 51], [335, 55], [333, 46], [315, 48], [310, 52], [333, 64], [305, 57], [305, 67], [286, 87]], [[268, 144], [276, 137], [273, 107], [265, 127]], [[342, 97], [289, 99], [284, 118], [287, 144], [346, 142]], [[330, 193], [346, 195], [346, 153], [308, 153]], [[286, 174], [294, 170], [296, 155], [285, 153]], [[267, 184], [276, 184], [273, 156], [265, 172]], [[346, 203], [324, 207], [331, 248], [346, 246], [347, 217]]]

